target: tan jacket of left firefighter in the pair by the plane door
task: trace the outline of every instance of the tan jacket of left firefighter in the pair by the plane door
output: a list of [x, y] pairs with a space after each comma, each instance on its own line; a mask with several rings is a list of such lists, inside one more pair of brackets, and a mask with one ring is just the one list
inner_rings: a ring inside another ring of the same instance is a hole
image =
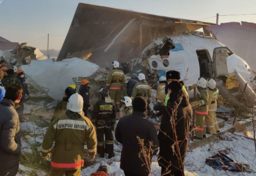
[[200, 115], [208, 114], [208, 92], [202, 87], [197, 88], [196, 101], [201, 105], [195, 108], [195, 113]]

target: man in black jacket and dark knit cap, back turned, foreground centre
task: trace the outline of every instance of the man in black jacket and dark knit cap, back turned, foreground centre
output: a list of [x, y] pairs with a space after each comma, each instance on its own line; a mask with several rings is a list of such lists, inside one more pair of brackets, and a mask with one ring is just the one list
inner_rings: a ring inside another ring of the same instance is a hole
[[142, 146], [137, 137], [144, 140], [145, 146], [152, 141], [154, 153], [157, 153], [159, 147], [154, 125], [145, 118], [146, 110], [147, 101], [143, 97], [135, 97], [133, 113], [123, 116], [116, 127], [116, 140], [123, 144], [120, 168], [124, 170], [126, 176], [146, 176], [150, 173], [150, 168], [143, 165], [143, 157], [139, 157]]

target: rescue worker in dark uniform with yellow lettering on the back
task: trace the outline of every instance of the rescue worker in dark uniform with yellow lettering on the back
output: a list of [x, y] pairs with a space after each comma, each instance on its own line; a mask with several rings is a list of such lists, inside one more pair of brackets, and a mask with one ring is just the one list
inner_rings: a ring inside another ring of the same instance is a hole
[[[116, 107], [109, 97], [109, 89], [102, 89], [102, 99], [97, 101], [93, 106], [92, 123], [96, 126], [97, 131], [97, 153], [100, 157], [114, 157], [114, 137], [112, 131], [116, 123]], [[104, 145], [105, 136], [105, 145]]]

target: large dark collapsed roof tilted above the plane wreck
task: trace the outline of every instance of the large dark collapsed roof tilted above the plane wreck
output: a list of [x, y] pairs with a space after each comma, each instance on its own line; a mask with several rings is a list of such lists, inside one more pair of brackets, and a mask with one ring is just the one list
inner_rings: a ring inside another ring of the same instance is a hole
[[208, 25], [213, 23], [80, 3], [58, 60], [79, 57], [107, 67], [113, 60], [140, 57], [153, 39]]

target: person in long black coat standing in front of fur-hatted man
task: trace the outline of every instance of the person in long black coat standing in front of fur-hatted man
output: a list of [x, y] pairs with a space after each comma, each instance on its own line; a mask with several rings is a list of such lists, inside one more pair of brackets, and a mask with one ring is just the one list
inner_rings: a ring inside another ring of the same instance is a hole
[[[158, 135], [160, 145], [159, 165], [162, 175], [169, 172], [166, 175], [184, 176], [184, 161], [193, 111], [188, 103], [187, 96], [184, 96], [180, 83], [171, 82], [169, 84], [169, 94], [170, 99], [167, 107], [159, 106], [160, 111], [163, 112]], [[175, 145], [176, 136], [178, 147]], [[173, 144], [175, 152], [173, 152]]]

